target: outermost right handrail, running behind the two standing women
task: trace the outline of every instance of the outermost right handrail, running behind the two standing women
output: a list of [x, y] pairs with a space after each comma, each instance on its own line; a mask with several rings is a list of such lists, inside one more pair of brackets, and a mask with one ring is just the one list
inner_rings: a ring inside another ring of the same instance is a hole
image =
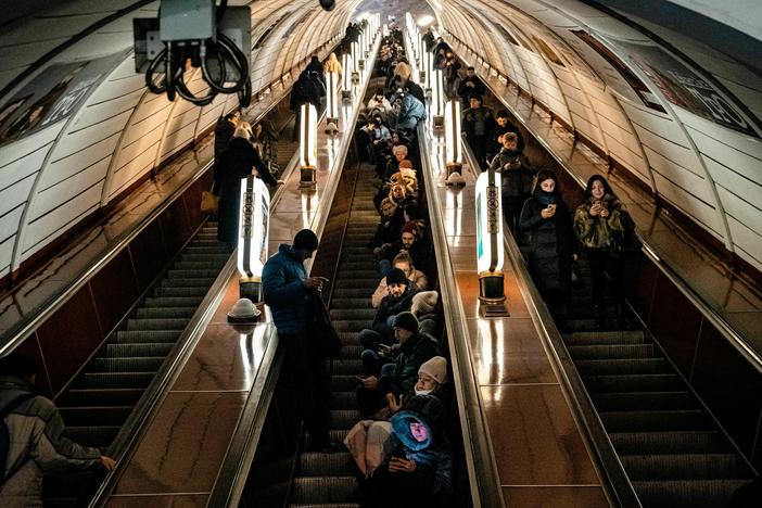
[[[450, 35], [452, 36], [452, 35]], [[461, 42], [461, 41], [460, 41]], [[462, 46], [468, 48], [463, 42], [461, 42]], [[468, 48], [470, 50], [470, 48]], [[471, 50], [472, 51], [472, 50]], [[458, 55], [463, 62], [468, 62], [462, 55]], [[506, 77], [504, 74], [498, 73], [499, 76]], [[583, 181], [573, 170], [573, 168], [570, 166], [568, 162], [566, 162], [562, 157], [557, 155], [554, 150], [551, 149], [550, 144], [547, 142], [547, 140], [542, 137], [538, 132], [536, 132], [530, 125], [526, 124], [524, 118], [519, 115], [519, 113], [516, 111], [516, 107], [509, 102], [503, 99], [503, 97], [493, 88], [492, 84], [486, 80], [482, 79], [482, 82], [484, 86], [493, 93], [494, 97], [497, 98], [497, 100], [500, 101], [500, 103], [506, 107], [508, 111], [511, 112], [515, 118], [517, 118], [521, 125], [529, 131], [532, 137], [537, 140], [537, 142], [545, 149], [545, 151], [556, 161], [556, 163], [561, 166], [571, 177], [574, 181], [576, 181], [580, 187], [583, 189], [586, 186], [586, 182]], [[683, 295], [690, 301], [691, 305], [694, 305], [700, 313], [701, 315], [709, 320], [714, 328], [716, 328], [720, 333], [740, 353], [744, 358], [749, 363], [749, 365], [757, 370], [757, 372], [762, 373], [762, 354], [759, 352], [754, 351], [741, 336], [740, 333], [738, 333], [735, 328], [725, 319], [717, 310], [715, 310], [712, 305], [707, 302], [701, 295], [690, 287], [688, 282], [685, 281], [683, 277], [681, 277], [670, 265], [668, 265], [664, 261], [662, 261], [658, 255], [657, 252], [659, 251], [658, 247], [656, 247], [647, 238], [644, 238], [644, 236], [638, 234], [638, 239], [643, 243], [643, 251], [646, 253], [648, 258], [653, 263], [653, 265], [664, 275], [666, 276], [668, 279], [680, 290]]]

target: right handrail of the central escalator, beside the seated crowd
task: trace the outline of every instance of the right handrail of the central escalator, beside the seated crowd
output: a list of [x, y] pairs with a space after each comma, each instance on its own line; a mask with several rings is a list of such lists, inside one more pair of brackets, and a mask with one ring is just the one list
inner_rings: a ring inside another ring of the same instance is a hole
[[[432, 162], [426, 149], [426, 127], [418, 126], [418, 144], [421, 152], [421, 170], [429, 185], [427, 189], [435, 189], [436, 178], [432, 172]], [[440, 274], [444, 320], [447, 329], [447, 341], [450, 351], [450, 364], [454, 384], [457, 391], [460, 427], [463, 433], [466, 465], [468, 468], [471, 499], [475, 508], [505, 506], [500, 487], [495, 452], [492, 447], [484, 408], [479, 396], [479, 386], [471, 364], [471, 355], [466, 341], [468, 329], [462, 302], [458, 296], [458, 287], [444, 223], [439, 195], [435, 191], [427, 190], [431, 233], [436, 252], [436, 268]]]

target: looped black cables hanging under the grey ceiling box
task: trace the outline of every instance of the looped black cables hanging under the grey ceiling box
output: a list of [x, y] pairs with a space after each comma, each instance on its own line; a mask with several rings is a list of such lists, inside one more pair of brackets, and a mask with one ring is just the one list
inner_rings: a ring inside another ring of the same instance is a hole
[[[225, 16], [228, 0], [221, 0], [217, 8], [216, 40], [193, 40], [173, 42], [166, 41], [164, 49], [149, 64], [145, 71], [145, 86], [153, 93], [167, 93], [169, 101], [178, 94], [196, 105], [211, 103], [217, 93], [237, 93], [242, 107], [251, 103], [252, 81], [249, 75], [249, 58], [236, 43], [219, 31], [220, 22]], [[195, 97], [185, 82], [186, 62], [191, 67], [199, 68], [204, 80], [208, 84], [208, 93]], [[164, 64], [164, 76], [156, 77], [160, 66]], [[234, 79], [233, 85], [225, 86], [228, 77]]]

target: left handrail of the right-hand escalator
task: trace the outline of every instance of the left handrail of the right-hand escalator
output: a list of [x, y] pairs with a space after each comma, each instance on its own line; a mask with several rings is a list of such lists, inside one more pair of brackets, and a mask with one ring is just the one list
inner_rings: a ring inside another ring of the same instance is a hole
[[[463, 158], [467, 161], [463, 166], [468, 166], [468, 170], [477, 178], [479, 172], [475, 168], [479, 167], [479, 164], [465, 136], [462, 137], [462, 152]], [[635, 488], [630, 478], [627, 478], [624, 467], [606, 432], [604, 422], [600, 420], [598, 411], [595, 410], [593, 401], [576, 371], [563, 339], [550, 316], [550, 312], [532, 280], [519, 245], [516, 243], [516, 239], [510, 233], [505, 221], [503, 231], [503, 244], [507, 254], [506, 259], [511, 264], [519, 290], [524, 296], [524, 302], [535, 323], [537, 333], [545, 343], [546, 350], [551, 354], [550, 359], [557, 367], [555, 370], [561, 378], [561, 390], [567, 394], [567, 399], [570, 402], [572, 415], [577, 427], [584, 431], [581, 434], [595, 452], [595, 456], [598, 459], [596, 469], [602, 472], [599, 475], [605, 480], [605, 490], [617, 501], [615, 506], [621, 508], [642, 508]]]

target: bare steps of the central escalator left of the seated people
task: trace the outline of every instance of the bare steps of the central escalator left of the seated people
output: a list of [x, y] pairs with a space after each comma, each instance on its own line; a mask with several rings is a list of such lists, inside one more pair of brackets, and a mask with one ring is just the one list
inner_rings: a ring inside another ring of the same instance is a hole
[[[379, 279], [372, 255], [366, 247], [379, 217], [372, 201], [374, 181], [372, 168], [363, 164], [330, 301], [331, 319], [344, 344], [341, 358], [333, 360], [331, 441], [335, 443], [341, 443], [360, 419], [355, 399], [356, 377], [363, 376], [357, 334], [376, 315], [370, 295]], [[347, 504], [357, 487], [356, 469], [348, 453], [302, 453], [297, 459], [291, 507], [356, 507]]]

